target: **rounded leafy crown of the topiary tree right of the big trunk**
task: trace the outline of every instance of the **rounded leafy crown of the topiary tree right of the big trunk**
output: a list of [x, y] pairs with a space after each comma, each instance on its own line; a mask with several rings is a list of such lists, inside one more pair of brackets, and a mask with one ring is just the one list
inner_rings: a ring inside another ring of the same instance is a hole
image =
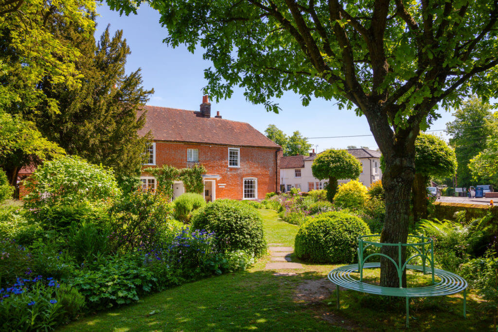
[[415, 173], [425, 176], [452, 175], [457, 167], [455, 151], [434, 135], [420, 134], [415, 140]]

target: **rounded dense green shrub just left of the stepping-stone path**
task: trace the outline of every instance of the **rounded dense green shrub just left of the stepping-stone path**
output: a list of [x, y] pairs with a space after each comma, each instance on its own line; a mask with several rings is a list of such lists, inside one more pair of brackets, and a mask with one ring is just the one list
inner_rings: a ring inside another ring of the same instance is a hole
[[192, 218], [192, 228], [215, 232], [223, 250], [246, 250], [255, 256], [266, 252], [261, 217], [240, 201], [216, 200], [207, 204]]

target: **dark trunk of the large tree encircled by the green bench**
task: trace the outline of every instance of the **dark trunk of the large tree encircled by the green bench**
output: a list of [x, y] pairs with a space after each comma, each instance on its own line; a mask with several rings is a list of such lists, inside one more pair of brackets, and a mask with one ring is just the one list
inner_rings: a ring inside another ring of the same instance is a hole
[[[384, 155], [385, 170], [382, 187], [385, 190], [385, 219], [380, 234], [383, 243], [406, 243], [410, 216], [411, 187], [414, 177], [413, 150], [398, 150]], [[401, 264], [406, 260], [406, 250], [402, 247]], [[382, 246], [381, 253], [398, 263], [398, 246]], [[399, 287], [399, 277], [394, 264], [387, 258], [380, 259], [380, 285]], [[406, 287], [406, 271], [402, 275], [402, 287]]]

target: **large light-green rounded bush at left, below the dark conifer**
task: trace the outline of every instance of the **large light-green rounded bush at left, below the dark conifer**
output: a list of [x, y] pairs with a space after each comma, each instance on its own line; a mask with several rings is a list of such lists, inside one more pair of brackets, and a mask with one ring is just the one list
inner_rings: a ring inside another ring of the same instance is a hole
[[32, 214], [41, 208], [58, 205], [82, 202], [99, 205], [121, 195], [112, 170], [76, 156], [45, 162], [29, 177], [26, 189], [29, 194], [24, 198], [24, 205], [34, 209]]

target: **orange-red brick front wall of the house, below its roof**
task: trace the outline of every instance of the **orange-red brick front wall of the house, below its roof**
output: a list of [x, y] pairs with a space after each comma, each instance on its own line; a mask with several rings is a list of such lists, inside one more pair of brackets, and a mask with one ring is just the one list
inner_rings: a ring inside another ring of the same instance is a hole
[[[156, 167], [171, 165], [187, 167], [187, 149], [199, 150], [199, 163], [204, 165], [209, 175], [219, 175], [216, 179], [216, 199], [243, 199], [244, 178], [257, 179], [257, 199], [262, 200], [266, 193], [279, 190], [279, 159], [275, 153], [282, 151], [270, 148], [225, 146], [214, 144], [174, 143], [155, 141]], [[240, 167], [228, 166], [228, 148], [240, 148]], [[277, 163], [275, 165], [275, 163]], [[146, 165], [146, 167], [154, 167]], [[142, 173], [142, 175], [148, 175]], [[222, 185], [222, 186], [220, 186]], [[224, 185], [224, 186], [223, 186]]]

